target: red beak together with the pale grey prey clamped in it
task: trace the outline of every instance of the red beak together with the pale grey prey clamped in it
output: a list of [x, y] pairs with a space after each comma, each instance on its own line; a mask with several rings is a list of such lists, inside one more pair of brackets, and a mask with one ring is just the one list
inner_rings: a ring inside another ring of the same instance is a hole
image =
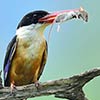
[[71, 19], [82, 19], [83, 21], [87, 22], [88, 13], [82, 7], [79, 9], [57, 11], [40, 18], [39, 22], [52, 24], [53, 22], [60, 23]]

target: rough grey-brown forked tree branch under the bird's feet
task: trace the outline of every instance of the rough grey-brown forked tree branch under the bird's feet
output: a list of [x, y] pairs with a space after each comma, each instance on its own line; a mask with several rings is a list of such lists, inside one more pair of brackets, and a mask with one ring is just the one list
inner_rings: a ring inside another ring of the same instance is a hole
[[41, 83], [39, 90], [36, 89], [34, 84], [20, 86], [17, 87], [15, 95], [9, 95], [11, 92], [10, 88], [3, 87], [0, 89], [0, 100], [23, 100], [47, 95], [55, 95], [57, 98], [69, 100], [88, 100], [82, 88], [87, 82], [99, 75], [100, 69], [93, 69], [70, 78]]

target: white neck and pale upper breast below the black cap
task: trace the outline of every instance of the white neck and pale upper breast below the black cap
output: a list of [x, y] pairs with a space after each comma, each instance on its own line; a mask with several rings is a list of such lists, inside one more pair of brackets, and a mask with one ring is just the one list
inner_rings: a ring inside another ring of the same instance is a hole
[[31, 60], [42, 56], [45, 49], [45, 38], [42, 33], [37, 33], [34, 26], [25, 26], [16, 31], [18, 37], [18, 52], [20, 56]]

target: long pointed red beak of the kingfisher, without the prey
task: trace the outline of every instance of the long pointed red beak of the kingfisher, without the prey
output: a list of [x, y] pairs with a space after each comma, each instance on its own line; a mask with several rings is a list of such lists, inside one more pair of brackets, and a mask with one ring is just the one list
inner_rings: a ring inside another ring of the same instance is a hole
[[[76, 10], [78, 10], [78, 9], [75, 9], [75, 11]], [[70, 11], [71, 10], [64, 10], [64, 11], [57, 11], [57, 12], [54, 12], [54, 13], [50, 13], [50, 14], [46, 15], [45, 17], [40, 18], [39, 22], [45, 22], [45, 23], [52, 24], [54, 22], [54, 20], [56, 19], [57, 16], [59, 16], [59, 15], [61, 15], [63, 13], [68, 13]]]

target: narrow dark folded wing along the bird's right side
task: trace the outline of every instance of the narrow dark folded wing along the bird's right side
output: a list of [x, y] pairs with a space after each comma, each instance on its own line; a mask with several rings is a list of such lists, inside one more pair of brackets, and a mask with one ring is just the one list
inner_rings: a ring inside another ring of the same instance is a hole
[[40, 70], [39, 70], [39, 74], [38, 74], [37, 80], [39, 80], [40, 76], [42, 75], [42, 72], [44, 70], [44, 66], [45, 66], [46, 61], [47, 61], [48, 45], [47, 45], [46, 41], [45, 41], [45, 43], [46, 43], [46, 49], [44, 50], [43, 55], [42, 55], [42, 60], [41, 60], [41, 65], [40, 65]]

